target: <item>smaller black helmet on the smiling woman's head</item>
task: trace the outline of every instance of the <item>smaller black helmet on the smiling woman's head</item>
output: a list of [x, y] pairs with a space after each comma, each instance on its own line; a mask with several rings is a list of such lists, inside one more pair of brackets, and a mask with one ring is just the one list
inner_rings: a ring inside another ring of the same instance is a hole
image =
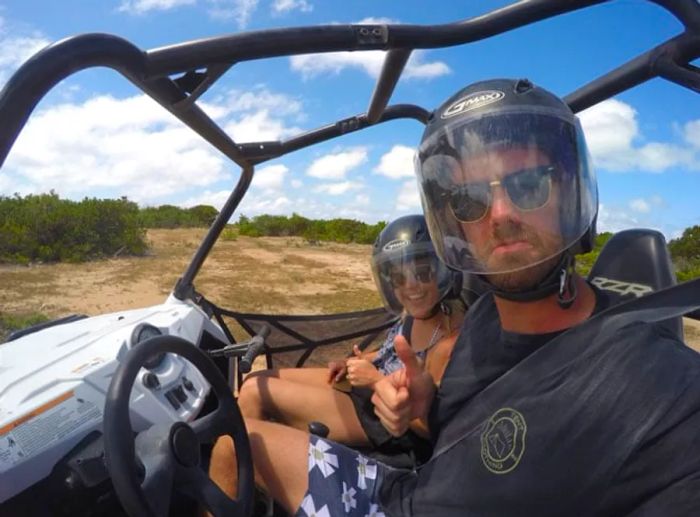
[[[371, 262], [372, 275], [382, 302], [388, 311], [395, 314], [401, 314], [404, 309], [394, 293], [396, 276], [403, 281], [403, 275], [408, 271], [416, 279], [437, 284], [438, 302], [460, 295], [462, 275], [450, 271], [438, 259], [422, 215], [407, 215], [389, 223], [374, 242]], [[435, 310], [438, 306], [439, 303]]]

